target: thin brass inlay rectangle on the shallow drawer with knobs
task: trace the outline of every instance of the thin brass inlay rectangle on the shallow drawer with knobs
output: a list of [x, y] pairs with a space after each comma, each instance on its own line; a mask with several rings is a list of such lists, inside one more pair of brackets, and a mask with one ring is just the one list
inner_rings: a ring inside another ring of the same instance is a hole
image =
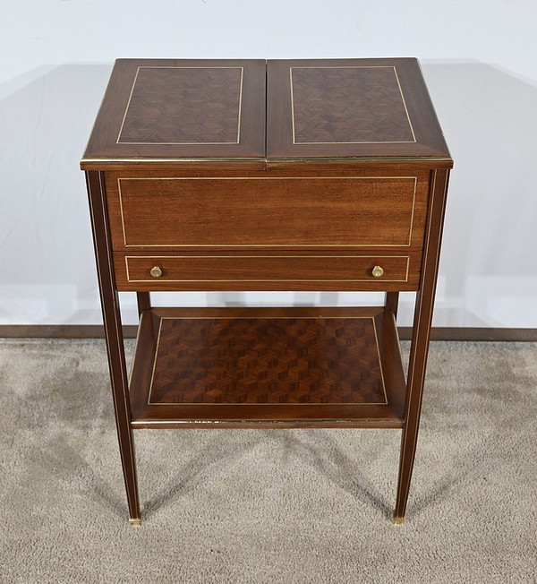
[[[406, 259], [406, 274], [405, 279], [327, 279], [327, 278], [315, 278], [315, 279], [303, 279], [303, 278], [274, 278], [274, 279], [131, 279], [129, 273], [129, 260], [173, 260], [176, 258], [188, 258], [188, 259], [198, 259], [198, 258], [218, 258], [220, 260], [234, 260], [236, 258], [351, 258], [351, 259], [366, 259], [366, 258], [378, 258], [383, 260], [385, 258], [401, 258]], [[407, 282], [408, 281], [408, 271], [410, 266], [410, 256], [409, 255], [233, 255], [233, 256], [222, 256], [222, 255], [125, 255], [125, 269], [127, 274], [128, 282]]]

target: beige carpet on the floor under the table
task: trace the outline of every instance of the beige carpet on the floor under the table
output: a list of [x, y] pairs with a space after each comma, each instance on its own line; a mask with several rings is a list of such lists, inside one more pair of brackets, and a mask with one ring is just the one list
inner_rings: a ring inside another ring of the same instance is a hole
[[3, 584], [537, 581], [535, 344], [431, 345], [403, 527], [397, 430], [139, 430], [131, 528], [109, 393], [101, 340], [0, 342]]

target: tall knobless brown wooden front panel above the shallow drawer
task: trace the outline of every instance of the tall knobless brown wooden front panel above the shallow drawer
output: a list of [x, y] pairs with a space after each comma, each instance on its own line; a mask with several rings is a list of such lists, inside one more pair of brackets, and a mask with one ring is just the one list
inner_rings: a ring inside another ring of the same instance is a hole
[[115, 250], [421, 249], [422, 176], [116, 176]]

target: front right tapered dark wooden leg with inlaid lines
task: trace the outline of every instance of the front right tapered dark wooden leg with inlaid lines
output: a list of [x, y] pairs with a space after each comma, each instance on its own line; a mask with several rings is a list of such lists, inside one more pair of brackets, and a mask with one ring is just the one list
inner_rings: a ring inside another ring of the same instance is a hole
[[448, 170], [431, 173], [430, 204], [422, 259], [422, 278], [414, 312], [412, 345], [408, 365], [405, 400], [405, 426], [401, 441], [399, 479], [397, 484], [396, 524], [403, 523], [412, 477], [422, 411], [423, 382], [429, 351], [430, 325], [439, 269], [442, 224], [446, 209]]

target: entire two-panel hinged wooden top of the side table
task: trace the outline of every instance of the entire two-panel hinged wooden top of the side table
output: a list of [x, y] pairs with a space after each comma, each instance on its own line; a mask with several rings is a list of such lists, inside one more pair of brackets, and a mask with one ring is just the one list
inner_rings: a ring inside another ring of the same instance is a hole
[[175, 159], [450, 156], [413, 58], [117, 60], [81, 167]]

